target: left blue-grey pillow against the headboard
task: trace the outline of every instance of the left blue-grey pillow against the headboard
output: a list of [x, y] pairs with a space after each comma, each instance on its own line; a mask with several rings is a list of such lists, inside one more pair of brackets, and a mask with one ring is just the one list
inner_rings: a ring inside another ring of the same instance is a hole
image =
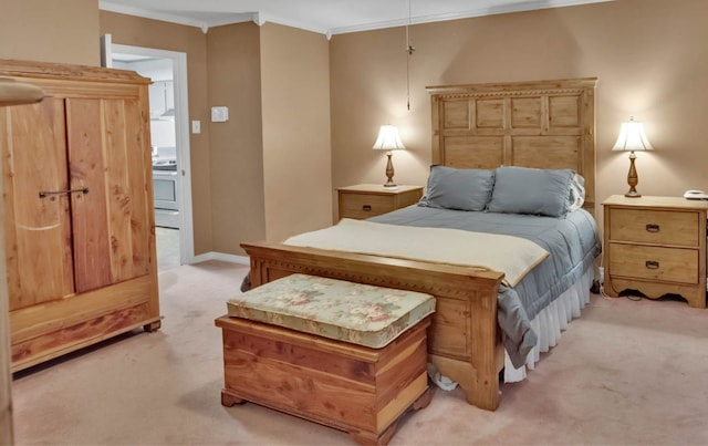
[[457, 210], [483, 210], [494, 186], [494, 172], [431, 166], [421, 206]]

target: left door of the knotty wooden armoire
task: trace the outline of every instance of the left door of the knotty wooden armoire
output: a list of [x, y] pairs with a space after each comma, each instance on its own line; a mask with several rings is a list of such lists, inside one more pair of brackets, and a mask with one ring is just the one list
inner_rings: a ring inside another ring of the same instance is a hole
[[74, 292], [64, 103], [0, 112], [10, 311]]

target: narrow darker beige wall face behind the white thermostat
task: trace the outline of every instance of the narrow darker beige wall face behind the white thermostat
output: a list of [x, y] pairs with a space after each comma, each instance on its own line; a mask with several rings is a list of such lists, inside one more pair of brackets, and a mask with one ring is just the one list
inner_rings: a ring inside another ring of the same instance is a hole
[[209, 105], [229, 107], [228, 122], [210, 124], [218, 252], [242, 253], [240, 242], [266, 239], [260, 40], [252, 22], [211, 28], [207, 34]]

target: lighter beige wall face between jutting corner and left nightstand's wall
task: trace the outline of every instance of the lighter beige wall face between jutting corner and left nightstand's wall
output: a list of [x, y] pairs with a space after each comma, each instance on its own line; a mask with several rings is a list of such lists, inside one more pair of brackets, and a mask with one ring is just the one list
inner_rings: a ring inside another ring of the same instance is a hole
[[324, 35], [261, 27], [269, 240], [332, 225], [329, 64]]

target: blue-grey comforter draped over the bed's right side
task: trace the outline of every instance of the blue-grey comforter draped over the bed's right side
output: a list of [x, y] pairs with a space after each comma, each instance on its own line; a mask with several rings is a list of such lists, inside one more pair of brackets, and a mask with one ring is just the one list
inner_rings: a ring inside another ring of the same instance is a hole
[[555, 218], [409, 206], [369, 220], [522, 237], [549, 251], [517, 287], [499, 290], [502, 342], [516, 367], [537, 344], [531, 320], [575, 283], [601, 252], [595, 220], [583, 209]]

